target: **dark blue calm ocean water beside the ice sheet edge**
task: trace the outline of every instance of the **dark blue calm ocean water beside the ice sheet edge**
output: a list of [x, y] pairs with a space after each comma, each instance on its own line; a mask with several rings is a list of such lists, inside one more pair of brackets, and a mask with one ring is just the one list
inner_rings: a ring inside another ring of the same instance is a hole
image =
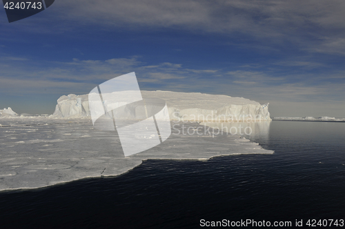
[[345, 219], [345, 123], [272, 121], [269, 135], [249, 138], [275, 154], [148, 160], [119, 177], [0, 192], [0, 227], [199, 228], [201, 219], [293, 225], [296, 219]]

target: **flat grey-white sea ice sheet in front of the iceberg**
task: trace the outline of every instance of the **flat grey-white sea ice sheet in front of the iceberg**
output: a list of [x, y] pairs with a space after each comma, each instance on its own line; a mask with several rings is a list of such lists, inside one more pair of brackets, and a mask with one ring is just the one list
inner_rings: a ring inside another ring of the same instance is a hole
[[[91, 119], [7, 117], [0, 122], [0, 190], [120, 175], [146, 159], [203, 160], [221, 155], [273, 153], [248, 139], [219, 134], [213, 128], [190, 122], [172, 122], [172, 135], [166, 141], [130, 157], [124, 157], [115, 132], [95, 130]], [[270, 121], [243, 123], [254, 125], [256, 131], [267, 135], [269, 124]]]

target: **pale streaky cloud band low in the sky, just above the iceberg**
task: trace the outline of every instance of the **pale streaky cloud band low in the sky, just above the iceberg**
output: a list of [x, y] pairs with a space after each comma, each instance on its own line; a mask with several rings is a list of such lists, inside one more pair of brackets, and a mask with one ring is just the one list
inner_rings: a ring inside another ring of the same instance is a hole
[[[270, 91], [275, 90], [277, 93], [279, 91], [279, 94], [284, 94], [285, 97], [290, 97], [293, 95], [325, 94], [326, 88], [331, 87], [332, 83], [335, 88], [333, 92], [340, 92], [343, 88], [339, 89], [342, 85], [342, 83], [339, 83], [339, 79], [344, 78], [342, 72], [289, 75], [279, 73], [279, 70], [277, 72], [273, 68], [259, 71], [248, 68], [248, 70], [224, 72], [221, 69], [184, 68], [181, 63], [164, 62], [148, 65], [144, 61], [140, 61], [140, 57], [106, 60], [72, 59], [68, 62], [41, 63], [41, 66], [36, 67], [32, 67], [32, 61], [25, 61], [26, 63], [22, 64], [20, 68], [14, 68], [15, 59], [10, 64], [7, 63], [1, 66], [0, 88], [2, 92], [15, 93], [18, 90], [25, 93], [23, 88], [28, 87], [27, 92], [29, 93], [34, 92], [34, 88], [42, 88], [42, 86], [51, 89], [63, 86], [63, 88], [66, 88], [63, 91], [75, 91], [76, 88], [82, 88], [79, 91], [87, 92], [92, 86], [103, 81], [135, 71], [141, 86], [147, 88], [151, 87], [150, 83], [158, 83], [161, 90], [167, 88], [173, 90], [172, 83], [175, 83], [176, 86], [179, 85], [178, 88], [189, 88], [195, 91], [220, 92], [219, 88], [224, 88], [223, 91], [226, 92], [226, 88], [231, 88], [232, 92], [243, 94], [241, 92], [243, 90], [247, 94], [251, 94], [250, 90], [259, 93], [259, 90], [269, 89]], [[309, 65], [309, 63], [291, 63], [288, 61], [282, 64]], [[47, 65], [50, 67], [46, 67]], [[293, 78], [296, 78], [296, 80], [292, 83], [291, 79]], [[328, 81], [326, 81], [327, 79]], [[337, 79], [337, 81], [331, 81], [330, 79]], [[321, 90], [322, 87], [325, 88]], [[326, 94], [329, 95], [330, 93]]]

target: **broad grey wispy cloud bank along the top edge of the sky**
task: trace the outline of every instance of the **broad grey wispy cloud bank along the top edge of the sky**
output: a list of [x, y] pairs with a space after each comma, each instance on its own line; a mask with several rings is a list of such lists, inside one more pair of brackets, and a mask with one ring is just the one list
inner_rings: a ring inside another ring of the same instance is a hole
[[181, 28], [221, 34], [237, 33], [279, 43], [292, 41], [303, 46], [307, 44], [304, 42], [306, 39], [328, 34], [334, 39], [324, 44], [329, 48], [342, 43], [342, 32], [339, 30], [345, 28], [344, 7], [345, 3], [338, 0], [215, 0], [212, 3], [206, 0], [61, 0], [55, 6], [60, 17], [66, 21], [126, 26], [135, 30]]

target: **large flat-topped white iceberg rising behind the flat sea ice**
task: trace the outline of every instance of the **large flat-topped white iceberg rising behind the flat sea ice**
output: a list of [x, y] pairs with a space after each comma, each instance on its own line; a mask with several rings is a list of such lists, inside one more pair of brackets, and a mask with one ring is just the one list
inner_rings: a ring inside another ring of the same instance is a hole
[[[116, 98], [113, 92], [112, 97]], [[270, 120], [268, 103], [261, 105], [256, 101], [226, 95], [141, 91], [142, 97], [164, 99], [171, 120], [179, 121], [261, 121]], [[130, 116], [132, 117], [132, 113]], [[64, 95], [57, 100], [55, 118], [90, 117], [88, 94]]]

